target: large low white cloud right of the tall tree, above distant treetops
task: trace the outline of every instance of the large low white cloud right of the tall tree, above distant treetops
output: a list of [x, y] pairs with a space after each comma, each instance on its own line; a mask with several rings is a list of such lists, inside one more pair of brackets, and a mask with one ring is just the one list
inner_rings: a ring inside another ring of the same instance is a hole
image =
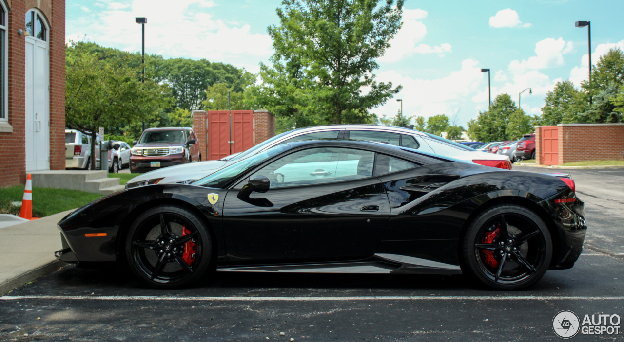
[[[485, 79], [477, 67], [479, 62], [466, 59], [462, 61], [461, 69], [451, 72], [446, 77], [434, 80], [423, 80], [411, 78], [398, 74], [394, 70], [381, 72], [377, 79], [381, 82], [392, 82], [393, 85], [403, 86], [401, 93], [396, 98], [403, 100], [403, 110], [408, 116], [429, 117], [437, 114], [451, 115], [461, 110], [463, 103], [469, 99], [475, 89], [480, 88], [485, 82], [487, 89], [487, 79]], [[487, 101], [487, 95], [486, 95]], [[396, 115], [397, 102], [388, 101], [379, 108], [374, 108], [371, 112], [377, 115]], [[471, 110], [461, 112], [462, 120], [473, 116]], [[464, 122], [460, 120], [461, 125]]]

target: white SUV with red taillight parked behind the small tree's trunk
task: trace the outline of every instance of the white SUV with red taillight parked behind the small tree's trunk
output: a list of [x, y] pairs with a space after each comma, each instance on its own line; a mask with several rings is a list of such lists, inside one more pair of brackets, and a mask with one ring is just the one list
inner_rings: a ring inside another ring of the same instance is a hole
[[[100, 169], [100, 135], [95, 135], [95, 169]], [[108, 151], [108, 167], [115, 172], [117, 150]], [[91, 169], [91, 135], [79, 130], [65, 130], [65, 168]]]

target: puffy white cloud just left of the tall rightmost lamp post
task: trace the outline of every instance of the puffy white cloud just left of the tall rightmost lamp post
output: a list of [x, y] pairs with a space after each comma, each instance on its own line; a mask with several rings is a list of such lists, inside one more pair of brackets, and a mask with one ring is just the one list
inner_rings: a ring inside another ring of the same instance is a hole
[[525, 70], [546, 69], [552, 67], [561, 67], [565, 65], [563, 55], [573, 50], [572, 42], [565, 42], [562, 38], [557, 40], [547, 38], [540, 40], [535, 44], [535, 56], [528, 60], [512, 60], [509, 63], [509, 70], [514, 73], [524, 72]]

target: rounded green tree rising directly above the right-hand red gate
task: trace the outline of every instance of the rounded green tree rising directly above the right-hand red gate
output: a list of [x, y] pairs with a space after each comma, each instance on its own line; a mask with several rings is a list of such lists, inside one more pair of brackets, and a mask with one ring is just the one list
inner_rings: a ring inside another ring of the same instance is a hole
[[587, 98], [574, 87], [572, 81], [557, 82], [555, 88], [546, 94], [542, 115], [537, 123], [544, 126], [578, 122], [578, 113], [585, 111]]

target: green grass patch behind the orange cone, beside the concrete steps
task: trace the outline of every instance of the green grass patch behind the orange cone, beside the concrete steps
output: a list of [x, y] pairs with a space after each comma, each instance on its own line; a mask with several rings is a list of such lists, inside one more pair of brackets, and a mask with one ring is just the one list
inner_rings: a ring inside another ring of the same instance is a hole
[[[12, 206], [11, 202], [21, 202], [22, 196], [24, 196], [23, 185], [0, 188], [0, 214], [19, 215], [20, 207]], [[50, 216], [75, 209], [102, 196], [69, 189], [32, 188], [32, 217]]]

